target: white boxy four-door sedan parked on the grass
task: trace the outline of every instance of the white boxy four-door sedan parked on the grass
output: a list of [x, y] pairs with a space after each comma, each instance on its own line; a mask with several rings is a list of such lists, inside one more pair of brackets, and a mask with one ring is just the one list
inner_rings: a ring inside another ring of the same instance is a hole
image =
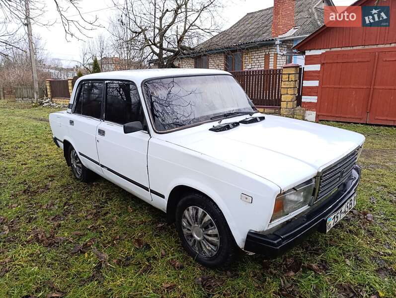
[[277, 256], [356, 204], [364, 136], [259, 113], [227, 72], [84, 75], [50, 125], [78, 180], [98, 174], [166, 212], [208, 267], [239, 249]]

